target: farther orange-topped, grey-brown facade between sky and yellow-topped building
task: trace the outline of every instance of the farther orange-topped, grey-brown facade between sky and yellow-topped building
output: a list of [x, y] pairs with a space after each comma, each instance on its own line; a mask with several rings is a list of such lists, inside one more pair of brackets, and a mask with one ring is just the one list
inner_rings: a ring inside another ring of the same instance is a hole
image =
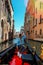
[[25, 33], [28, 32], [28, 39], [34, 38], [33, 36], [34, 12], [35, 12], [35, 2], [34, 0], [29, 0], [26, 8], [25, 22], [24, 22]]

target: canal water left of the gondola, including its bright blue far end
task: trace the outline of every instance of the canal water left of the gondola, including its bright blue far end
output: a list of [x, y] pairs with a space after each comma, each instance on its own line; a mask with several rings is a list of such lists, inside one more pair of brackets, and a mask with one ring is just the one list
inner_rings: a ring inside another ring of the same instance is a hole
[[19, 38], [15, 38], [13, 40], [0, 43], [0, 52], [4, 51], [5, 49], [7, 49], [7, 48], [9, 48], [11, 46], [13, 46], [14, 44], [16, 44], [18, 42], [18, 40], [19, 40]]

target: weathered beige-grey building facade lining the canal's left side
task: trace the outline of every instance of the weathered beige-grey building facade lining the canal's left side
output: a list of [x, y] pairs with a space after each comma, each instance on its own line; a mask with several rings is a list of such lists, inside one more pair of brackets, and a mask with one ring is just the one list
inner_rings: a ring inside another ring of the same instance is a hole
[[0, 40], [13, 38], [14, 20], [11, 0], [0, 1]]

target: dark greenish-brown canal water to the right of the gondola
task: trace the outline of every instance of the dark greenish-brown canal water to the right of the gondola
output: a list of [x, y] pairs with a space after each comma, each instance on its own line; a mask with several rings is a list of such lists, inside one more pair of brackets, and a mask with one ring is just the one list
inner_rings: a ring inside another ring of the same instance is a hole
[[36, 51], [37, 55], [40, 57], [43, 52], [43, 42], [29, 40], [30, 46]]

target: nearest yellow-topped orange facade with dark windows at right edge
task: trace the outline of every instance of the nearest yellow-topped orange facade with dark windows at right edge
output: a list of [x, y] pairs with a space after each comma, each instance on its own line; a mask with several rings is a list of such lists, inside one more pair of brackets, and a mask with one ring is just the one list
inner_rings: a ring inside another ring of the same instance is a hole
[[[36, 5], [37, 4], [37, 5]], [[43, 41], [43, 1], [35, 2], [34, 39]]]

